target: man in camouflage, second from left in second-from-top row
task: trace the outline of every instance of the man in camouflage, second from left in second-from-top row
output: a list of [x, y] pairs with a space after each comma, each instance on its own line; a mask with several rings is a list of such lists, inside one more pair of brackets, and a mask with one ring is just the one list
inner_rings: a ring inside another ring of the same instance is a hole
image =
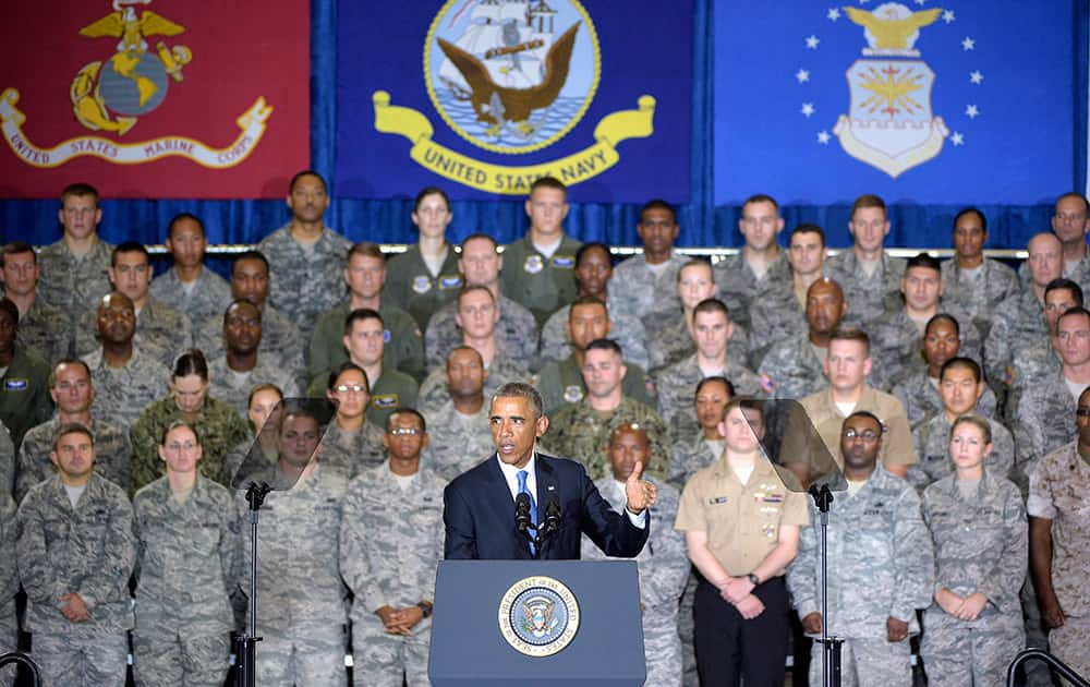
[[[136, 343], [155, 351], [159, 362], [169, 365], [193, 341], [193, 325], [182, 312], [148, 296], [152, 261], [147, 249], [126, 241], [113, 249], [108, 270], [113, 287], [129, 297], [136, 309]], [[75, 330], [75, 352], [86, 355], [98, 347], [95, 311], [87, 311]]]

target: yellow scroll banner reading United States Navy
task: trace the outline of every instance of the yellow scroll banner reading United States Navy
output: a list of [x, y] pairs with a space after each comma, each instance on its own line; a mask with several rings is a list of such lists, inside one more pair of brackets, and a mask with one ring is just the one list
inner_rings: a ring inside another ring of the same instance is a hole
[[522, 167], [491, 165], [456, 153], [432, 141], [435, 130], [419, 111], [390, 105], [390, 94], [376, 91], [375, 130], [399, 134], [412, 142], [409, 156], [420, 166], [460, 184], [508, 195], [525, 195], [542, 177], [555, 177], [571, 185], [596, 177], [620, 160], [617, 144], [626, 138], [646, 138], [654, 133], [655, 99], [640, 96], [637, 110], [606, 114], [594, 129], [597, 143], [573, 155], [541, 165]]

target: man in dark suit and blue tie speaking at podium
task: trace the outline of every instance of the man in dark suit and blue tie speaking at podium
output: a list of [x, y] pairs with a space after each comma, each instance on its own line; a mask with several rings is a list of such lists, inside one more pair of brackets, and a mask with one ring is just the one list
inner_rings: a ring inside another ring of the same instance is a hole
[[655, 486], [637, 463], [625, 484], [620, 515], [598, 494], [583, 466], [537, 453], [548, 429], [542, 397], [509, 383], [492, 398], [488, 421], [496, 454], [455, 479], [444, 492], [445, 557], [449, 559], [576, 559], [580, 534], [607, 555], [635, 557], [647, 541]]

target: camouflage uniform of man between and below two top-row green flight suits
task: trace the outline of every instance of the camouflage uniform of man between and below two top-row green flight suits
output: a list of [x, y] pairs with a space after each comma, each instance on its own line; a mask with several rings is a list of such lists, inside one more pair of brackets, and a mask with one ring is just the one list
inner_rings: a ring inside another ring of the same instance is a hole
[[[496, 323], [496, 348], [509, 358], [530, 366], [537, 358], [537, 321], [519, 303], [499, 294], [499, 322]], [[432, 314], [424, 334], [428, 372], [445, 369], [450, 351], [462, 345], [462, 332], [455, 322], [458, 301], [451, 301]]]

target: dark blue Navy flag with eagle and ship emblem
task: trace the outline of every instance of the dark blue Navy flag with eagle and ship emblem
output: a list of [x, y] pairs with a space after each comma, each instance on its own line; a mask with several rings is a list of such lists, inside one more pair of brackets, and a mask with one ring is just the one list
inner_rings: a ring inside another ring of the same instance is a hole
[[338, 4], [342, 196], [689, 201], [692, 0]]

